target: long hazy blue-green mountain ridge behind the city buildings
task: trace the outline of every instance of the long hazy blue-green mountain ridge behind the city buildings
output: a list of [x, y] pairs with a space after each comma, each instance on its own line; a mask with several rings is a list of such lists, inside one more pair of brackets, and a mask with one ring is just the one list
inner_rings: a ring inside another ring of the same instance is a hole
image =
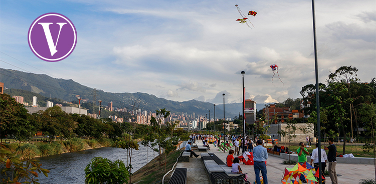
[[[81, 85], [72, 79], [53, 78], [46, 74], [27, 73], [13, 69], [0, 68], [0, 71], [0, 81], [4, 82], [5, 88], [23, 89], [46, 97], [51, 96], [51, 98], [59, 98], [66, 101], [77, 101], [76, 96], [79, 95], [83, 101], [92, 102], [95, 100], [97, 105], [99, 105], [99, 99], [102, 100], [102, 104], [104, 105], [112, 101], [113, 106], [119, 108], [130, 108], [131, 104], [137, 101], [138, 105], [136, 107], [142, 110], [155, 111], [159, 108], [166, 108], [178, 114], [183, 112], [192, 114], [195, 112], [196, 115], [209, 115], [210, 110], [211, 117], [214, 116], [214, 112], [212, 112], [214, 105], [210, 102], [195, 99], [182, 102], [172, 101], [142, 92], [105, 92], [100, 89], [97, 90]], [[225, 104], [226, 117], [234, 118], [234, 116], [239, 115], [242, 109], [241, 103], [239, 104]], [[221, 105], [216, 106], [216, 117], [223, 117], [223, 108], [221, 108]]]

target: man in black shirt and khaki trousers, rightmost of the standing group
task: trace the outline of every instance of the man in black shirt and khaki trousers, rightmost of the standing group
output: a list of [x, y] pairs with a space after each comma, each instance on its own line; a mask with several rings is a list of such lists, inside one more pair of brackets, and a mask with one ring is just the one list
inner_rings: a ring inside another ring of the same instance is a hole
[[325, 150], [328, 151], [328, 162], [329, 162], [329, 177], [331, 180], [332, 184], [338, 184], [338, 179], [337, 179], [337, 172], [335, 171], [335, 166], [337, 165], [337, 147], [334, 145], [334, 139], [332, 137], [329, 138], [328, 140], [329, 146], [325, 146]]

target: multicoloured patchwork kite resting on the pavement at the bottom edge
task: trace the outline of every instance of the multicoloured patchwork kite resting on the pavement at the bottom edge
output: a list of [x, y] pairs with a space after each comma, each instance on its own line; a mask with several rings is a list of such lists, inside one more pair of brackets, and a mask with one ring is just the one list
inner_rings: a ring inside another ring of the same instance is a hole
[[[319, 172], [316, 172], [317, 167], [313, 167], [309, 163], [305, 162], [303, 165], [296, 163], [292, 168], [287, 166], [283, 172], [281, 182], [283, 184], [301, 184], [302, 181], [299, 179], [300, 175], [304, 175], [308, 184], [314, 184], [318, 182]], [[325, 177], [321, 175], [322, 181], [325, 181]], [[311, 181], [311, 182], [309, 182]]]

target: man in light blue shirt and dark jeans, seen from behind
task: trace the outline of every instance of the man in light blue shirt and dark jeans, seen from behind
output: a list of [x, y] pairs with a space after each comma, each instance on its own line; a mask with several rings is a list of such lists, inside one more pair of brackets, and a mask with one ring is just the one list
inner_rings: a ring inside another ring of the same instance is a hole
[[262, 146], [262, 140], [256, 141], [257, 146], [253, 148], [253, 168], [255, 169], [256, 183], [261, 184], [260, 171], [264, 179], [264, 184], [268, 184], [268, 176], [266, 175], [266, 159], [268, 159], [268, 151]]

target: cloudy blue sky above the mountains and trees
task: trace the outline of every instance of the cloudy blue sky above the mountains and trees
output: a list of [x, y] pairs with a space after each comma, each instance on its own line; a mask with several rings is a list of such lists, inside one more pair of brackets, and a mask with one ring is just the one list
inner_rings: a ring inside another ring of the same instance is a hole
[[[247, 15], [254, 26], [236, 21], [235, 4], [257, 11]], [[376, 1], [315, 0], [315, 10], [319, 81], [343, 65], [361, 81], [376, 77]], [[48, 12], [77, 30], [74, 51], [58, 62], [28, 44], [30, 25]], [[221, 104], [225, 93], [226, 103], [241, 102], [242, 70], [245, 97], [257, 103], [302, 97], [315, 83], [310, 0], [1, 0], [0, 51], [2, 68], [175, 101]]]

